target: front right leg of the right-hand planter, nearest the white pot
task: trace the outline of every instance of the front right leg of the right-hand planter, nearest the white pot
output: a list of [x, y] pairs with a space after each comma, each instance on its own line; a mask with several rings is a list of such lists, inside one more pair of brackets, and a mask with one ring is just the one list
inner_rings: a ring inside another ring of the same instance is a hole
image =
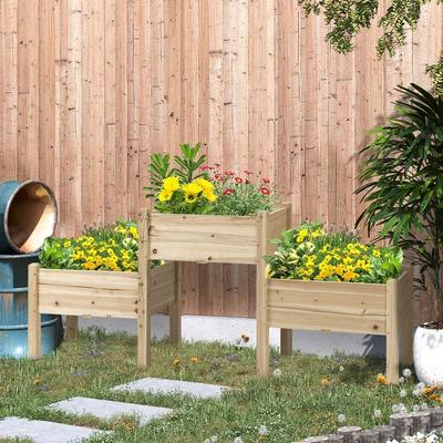
[[390, 279], [387, 284], [387, 378], [390, 383], [399, 383], [399, 285]]

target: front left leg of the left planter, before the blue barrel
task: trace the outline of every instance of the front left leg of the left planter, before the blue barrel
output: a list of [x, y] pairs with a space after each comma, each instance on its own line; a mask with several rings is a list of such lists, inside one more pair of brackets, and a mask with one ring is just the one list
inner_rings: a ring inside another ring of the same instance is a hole
[[41, 357], [41, 317], [39, 310], [39, 265], [28, 268], [28, 357]]

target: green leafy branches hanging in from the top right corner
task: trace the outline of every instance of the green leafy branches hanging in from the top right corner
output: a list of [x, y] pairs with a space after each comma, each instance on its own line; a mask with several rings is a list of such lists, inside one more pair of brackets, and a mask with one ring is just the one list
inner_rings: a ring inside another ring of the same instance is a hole
[[[377, 43], [379, 58], [385, 52], [393, 55], [395, 49], [404, 44], [408, 29], [416, 28], [421, 10], [430, 1], [443, 4], [442, 0], [391, 0], [391, 4], [378, 23], [382, 30], [382, 35]], [[332, 27], [326, 40], [341, 53], [354, 49], [356, 35], [362, 29], [372, 25], [380, 8], [379, 0], [298, 0], [298, 3], [303, 7], [307, 14], [323, 13], [324, 21]], [[443, 53], [439, 63], [427, 66], [427, 72], [440, 94], [443, 89], [442, 59]]]

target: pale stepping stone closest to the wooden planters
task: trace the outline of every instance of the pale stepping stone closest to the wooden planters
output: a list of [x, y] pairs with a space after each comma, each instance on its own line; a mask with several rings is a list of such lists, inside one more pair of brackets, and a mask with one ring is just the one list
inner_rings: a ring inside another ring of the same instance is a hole
[[190, 381], [154, 379], [154, 378], [141, 379], [112, 388], [112, 391], [126, 391], [126, 392], [142, 391], [154, 394], [182, 393], [198, 399], [219, 399], [222, 394], [227, 390], [229, 390], [228, 387], [220, 387], [217, 384], [194, 383]]

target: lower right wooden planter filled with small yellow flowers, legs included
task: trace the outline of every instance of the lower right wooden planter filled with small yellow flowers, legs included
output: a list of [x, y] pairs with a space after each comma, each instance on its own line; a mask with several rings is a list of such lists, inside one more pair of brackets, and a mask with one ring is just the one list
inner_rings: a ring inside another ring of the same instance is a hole
[[[266, 257], [259, 328], [288, 328], [387, 336], [387, 377], [399, 381], [399, 334], [403, 360], [412, 348], [412, 275], [399, 248], [367, 246], [347, 231], [327, 233], [320, 223], [284, 231]], [[269, 343], [257, 348], [268, 373]]]

